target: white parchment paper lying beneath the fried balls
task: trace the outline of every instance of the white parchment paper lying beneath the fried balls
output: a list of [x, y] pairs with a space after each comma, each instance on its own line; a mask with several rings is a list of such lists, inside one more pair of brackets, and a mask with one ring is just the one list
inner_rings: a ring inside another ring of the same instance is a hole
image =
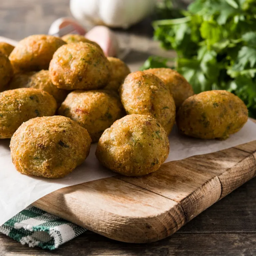
[[[194, 155], [207, 154], [256, 140], [256, 124], [248, 121], [236, 134], [225, 141], [200, 140], [182, 136], [174, 127], [169, 136], [170, 153], [166, 162]], [[0, 225], [37, 199], [63, 187], [114, 176], [95, 157], [96, 144], [85, 162], [61, 179], [46, 179], [22, 175], [12, 164], [10, 140], [0, 140]], [[50, 207], [50, 206], [49, 206]]]

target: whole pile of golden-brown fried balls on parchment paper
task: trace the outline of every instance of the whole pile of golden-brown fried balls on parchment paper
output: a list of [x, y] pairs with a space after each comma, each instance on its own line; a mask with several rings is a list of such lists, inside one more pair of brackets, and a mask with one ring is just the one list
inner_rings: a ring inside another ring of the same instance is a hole
[[131, 73], [83, 36], [32, 35], [0, 43], [0, 139], [26, 175], [60, 178], [82, 164], [92, 142], [97, 159], [126, 175], [154, 172], [169, 154], [168, 135], [226, 139], [248, 111], [234, 94], [194, 95], [169, 68]]

